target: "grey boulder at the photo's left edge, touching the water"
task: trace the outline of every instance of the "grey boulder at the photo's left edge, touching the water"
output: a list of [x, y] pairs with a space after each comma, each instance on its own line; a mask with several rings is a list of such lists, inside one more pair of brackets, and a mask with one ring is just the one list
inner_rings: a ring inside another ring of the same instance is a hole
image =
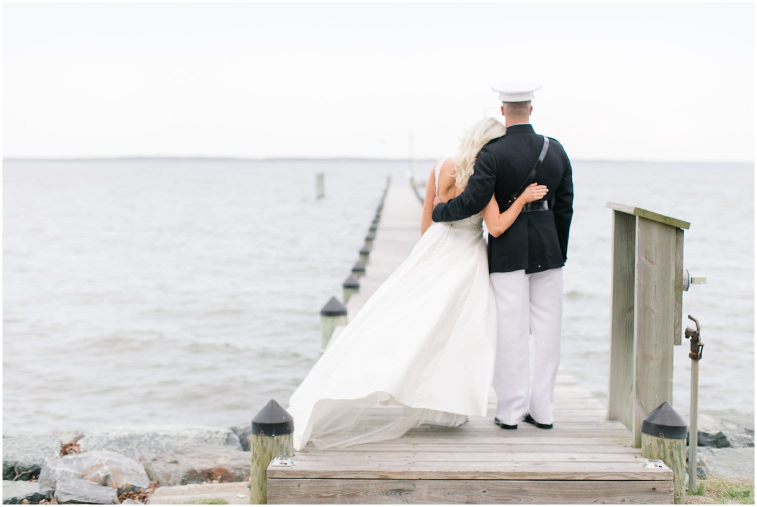
[[13, 481], [17, 471], [29, 471], [19, 479], [30, 479], [39, 474], [45, 458], [61, 456], [60, 439], [46, 434], [2, 437], [2, 478]]

